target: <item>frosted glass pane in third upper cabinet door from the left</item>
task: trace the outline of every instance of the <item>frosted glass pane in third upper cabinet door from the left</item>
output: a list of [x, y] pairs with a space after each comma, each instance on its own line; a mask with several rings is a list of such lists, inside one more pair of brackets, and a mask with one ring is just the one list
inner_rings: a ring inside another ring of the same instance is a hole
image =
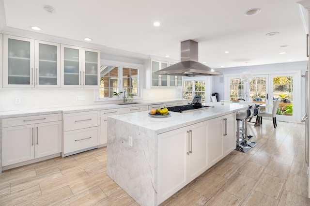
[[79, 85], [80, 50], [74, 48], [63, 48], [63, 84]]

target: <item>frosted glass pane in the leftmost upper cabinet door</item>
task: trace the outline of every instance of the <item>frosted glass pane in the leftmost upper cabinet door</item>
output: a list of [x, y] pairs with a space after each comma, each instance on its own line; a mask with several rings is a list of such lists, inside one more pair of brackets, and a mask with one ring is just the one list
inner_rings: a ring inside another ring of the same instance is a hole
[[31, 84], [31, 42], [8, 39], [8, 84]]

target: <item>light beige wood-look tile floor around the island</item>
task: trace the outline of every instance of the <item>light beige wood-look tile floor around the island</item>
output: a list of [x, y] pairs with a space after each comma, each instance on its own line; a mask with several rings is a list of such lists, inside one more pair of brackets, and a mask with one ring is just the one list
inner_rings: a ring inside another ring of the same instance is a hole
[[[256, 147], [233, 151], [163, 206], [310, 205], [305, 126], [248, 124]], [[0, 206], [138, 206], [109, 176], [107, 148], [33, 163], [0, 174]]]

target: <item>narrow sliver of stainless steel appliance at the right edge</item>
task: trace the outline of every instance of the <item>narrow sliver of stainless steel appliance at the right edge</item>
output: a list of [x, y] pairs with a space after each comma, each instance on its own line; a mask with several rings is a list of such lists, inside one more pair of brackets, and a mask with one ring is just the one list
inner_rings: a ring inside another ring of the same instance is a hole
[[306, 163], [309, 167], [309, 78], [308, 78], [308, 71], [305, 74], [305, 111], [306, 114], [304, 117], [301, 119], [301, 122], [306, 123], [306, 136], [305, 136], [305, 159]]

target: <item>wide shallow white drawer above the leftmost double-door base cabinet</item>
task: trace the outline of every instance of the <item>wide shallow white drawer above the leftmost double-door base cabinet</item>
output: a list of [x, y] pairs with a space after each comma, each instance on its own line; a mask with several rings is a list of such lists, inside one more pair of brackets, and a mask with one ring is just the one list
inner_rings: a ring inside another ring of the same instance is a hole
[[62, 120], [61, 113], [51, 115], [36, 115], [20, 118], [4, 118], [2, 119], [2, 127], [13, 127], [28, 124], [36, 124], [36, 123], [45, 123], [51, 121], [60, 121], [60, 120]]

